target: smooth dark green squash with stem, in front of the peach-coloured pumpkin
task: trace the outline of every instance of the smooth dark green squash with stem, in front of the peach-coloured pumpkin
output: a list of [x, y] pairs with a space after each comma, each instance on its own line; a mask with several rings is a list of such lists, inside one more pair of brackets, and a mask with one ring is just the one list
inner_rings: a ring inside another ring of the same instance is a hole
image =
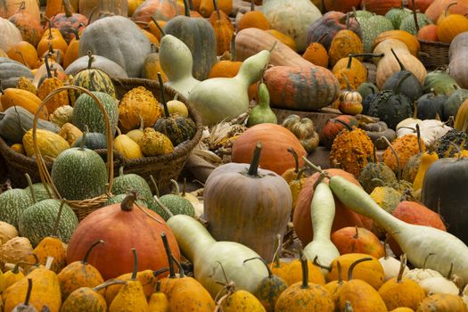
[[413, 103], [423, 95], [423, 86], [421, 85], [421, 82], [419, 82], [419, 79], [416, 78], [415, 74], [409, 70], [406, 70], [405, 65], [399, 61], [398, 56], [395, 51], [393, 51], [393, 49], [391, 49], [391, 53], [393, 53], [397, 59], [400, 70], [395, 72], [390, 76], [390, 78], [387, 79], [387, 81], [385, 81], [385, 84], [382, 86], [382, 90], [395, 91], [401, 78], [405, 77], [406, 74], [409, 73], [410, 75], [405, 79], [405, 83], [399, 87], [399, 93], [405, 94], [411, 103]]

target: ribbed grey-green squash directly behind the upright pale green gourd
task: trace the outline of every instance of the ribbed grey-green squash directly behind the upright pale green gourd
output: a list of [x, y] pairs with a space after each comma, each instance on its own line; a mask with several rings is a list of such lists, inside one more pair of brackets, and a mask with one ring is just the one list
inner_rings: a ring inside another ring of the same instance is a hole
[[209, 21], [179, 15], [168, 21], [164, 32], [182, 40], [193, 56], [193, 78], [208, 78], [209, 70], [218, 61], [215, 30]]

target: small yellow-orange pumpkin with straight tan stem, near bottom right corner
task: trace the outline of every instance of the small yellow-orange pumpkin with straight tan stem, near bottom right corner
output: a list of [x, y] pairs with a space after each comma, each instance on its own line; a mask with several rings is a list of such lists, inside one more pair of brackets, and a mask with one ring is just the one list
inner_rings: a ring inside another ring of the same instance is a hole
[[403, 278], [406, 255], [401, 256], [400, 263], [398, 276], [385, 282], [379, 289], [379, 294], [389, 310], [398, 307], [416, 309], [421, 300], [426, 297], [426, 293], [414, 280]]

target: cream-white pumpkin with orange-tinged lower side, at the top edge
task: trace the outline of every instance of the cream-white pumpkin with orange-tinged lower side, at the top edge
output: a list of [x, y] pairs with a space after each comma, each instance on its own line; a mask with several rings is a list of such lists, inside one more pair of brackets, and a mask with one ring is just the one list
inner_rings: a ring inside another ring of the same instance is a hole
[[322, 16], [310, 0], [263, 0], [262, 12], [272, 29], [294, 39], [298, 52], [306, 50], [308, 27]]

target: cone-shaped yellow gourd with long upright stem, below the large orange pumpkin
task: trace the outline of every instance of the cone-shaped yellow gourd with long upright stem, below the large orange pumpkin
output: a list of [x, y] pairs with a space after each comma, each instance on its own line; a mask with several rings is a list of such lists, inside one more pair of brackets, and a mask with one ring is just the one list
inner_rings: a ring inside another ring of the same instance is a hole
[[117, 296], [112, 300], [109, 306], [109, 312], [146, 312], [148, 302], [144, 296], [143, 286], [140, 281], [136, 280], [138, 273], [138, 258], [135, 248], [132, 248], [134, 255], [134, 270], [130, 281], [120, 288]]

